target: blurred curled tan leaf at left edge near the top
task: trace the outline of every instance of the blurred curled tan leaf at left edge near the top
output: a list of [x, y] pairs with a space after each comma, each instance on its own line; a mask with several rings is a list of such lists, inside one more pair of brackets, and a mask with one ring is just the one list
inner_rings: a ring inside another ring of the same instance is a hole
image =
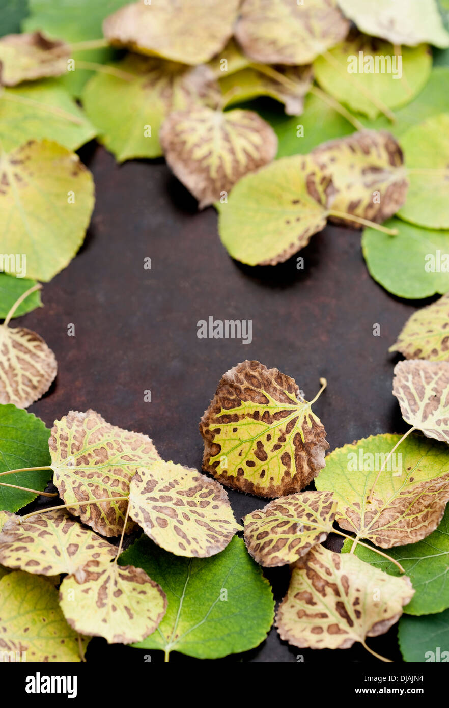
[[70, 47], [40, 32], [6, 35], [0, 39], [0, 84], [16, 86], [67, 71]]

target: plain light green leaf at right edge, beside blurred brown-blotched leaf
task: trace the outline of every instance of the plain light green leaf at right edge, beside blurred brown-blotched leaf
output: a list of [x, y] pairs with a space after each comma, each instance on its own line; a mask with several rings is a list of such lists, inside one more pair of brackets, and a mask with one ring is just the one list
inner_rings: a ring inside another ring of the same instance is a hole
[[412, 127], [401, 145], [410, 187], [397, 216], [428, 229], [449, 229], [449, 113]]

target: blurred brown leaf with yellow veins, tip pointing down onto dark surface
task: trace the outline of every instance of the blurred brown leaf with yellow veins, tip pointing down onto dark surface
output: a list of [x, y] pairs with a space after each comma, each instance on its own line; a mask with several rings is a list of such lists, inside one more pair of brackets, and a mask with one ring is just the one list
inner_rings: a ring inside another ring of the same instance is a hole
[[248, 172], [272, 161], [277, 139], [250, 110], [191, 108], [170, 113], [159, 135], [168, 165], [202, 209]]

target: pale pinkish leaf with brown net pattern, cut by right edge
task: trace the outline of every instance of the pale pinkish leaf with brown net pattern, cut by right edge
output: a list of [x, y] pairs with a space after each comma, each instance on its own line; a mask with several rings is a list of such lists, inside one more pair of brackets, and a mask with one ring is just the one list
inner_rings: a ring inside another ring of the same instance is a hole
[[428, 438], [449, 442], [449, 362], [400, 361], [395, 366], [393, 396], [404, 421]]

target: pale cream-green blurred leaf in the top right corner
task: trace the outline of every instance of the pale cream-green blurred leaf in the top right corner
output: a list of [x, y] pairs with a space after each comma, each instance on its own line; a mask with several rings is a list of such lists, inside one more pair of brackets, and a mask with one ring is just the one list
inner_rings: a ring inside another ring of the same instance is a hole
[[449, 47], [435, 0], [338, 0], [346, 17], [367, 35], [393, 44], [415, 46], [421, 42]]

